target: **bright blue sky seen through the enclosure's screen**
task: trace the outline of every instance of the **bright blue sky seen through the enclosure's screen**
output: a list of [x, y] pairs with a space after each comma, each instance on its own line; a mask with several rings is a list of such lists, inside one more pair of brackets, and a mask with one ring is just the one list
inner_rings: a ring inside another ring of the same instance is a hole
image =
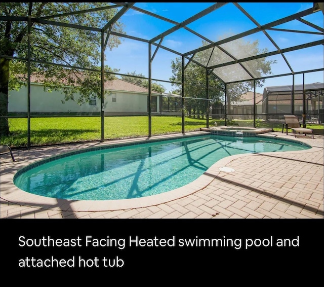
[[[214, 3], [136, 3], [135, 6], [180, 23], [213, 4]], [[313, 7], [313, 3], [239, 3], [239, 5], [254, 17], [260, 25]], [[303, 19], [323, 28], [323, 14], [321, 11], [303, 17]], [[145, 15], [132, 9], [123, 15], [119, 21], [124, 23], [124, 31], [127, 34], [146, 40], [151, 40], [160, 33], [175, 26], [172, 23]], [[232, 3], [227, 3], [205, 17], [188, 24], [187, 27], [198, 32], [207, 39], [216, 42], [229, 37], [229, 35], [253, 29], [256, 25]], [[319, 32], [317, 29], [298, 20], [278, 25], [275, 28]], [[280, 49], [323, 39], [323, 35], [320, 34], [275, 30], [267, 30], [267, 32]], [[263, 32], [244, 37], [243, 40], [251, 43], [258, 40], [259, 49], [267, 49], [268, 52], [277, 50]], [[156, 43], [158, 43], [158, 41]], [[162, 45], [180, 53], [186, 53], [201, 47], [203, 42], [201, 38], [181, 28], [167, 35]], [[152, 54], [154, 51], [155, 46], [152, 46]], [[239, 51], [239, 56], [248, 57], [250, 55], [249, 53], [250, 51]], [[105, 55], [105, 64], [112, 68], [119, 69], [119, 73], [126, 74], [136, 71], [136, 73], [148, 77], [147, 43], [124, 38], [117, 48], [113, 48], [111, 51], [106, 50]], [[152, 61], [152, 78], [169, 81], [172, 76], [171, 62], [175, 60], [176, 57], [178, 56], [174, 53], [159, 49]], [[323, 68], [322, 45], [288, 52], [285, 53], [285, 57], [296, 72], [307, 69]], [[290, 73], [290, 69], [281, 55], [268, 57], [266, 59], [276, 60], [276, 63], [271, 66], [271, 75]], [[264, 86], [262, 88], [257, 88], [256, 91], [262, 93], [263, 88], [266, 86], [292, 85], [292, 79], [292, 76], [267, 79], [265, 80]], [[322, 71], [305, 74], [306, 84], [314, 82], [323, 82]], [[169, 83], [158, 83], [162, 84], [167, 92], [171, 92], [172, 89], [175, 89], [175, 87]], [[302, 83], [303, 76], [296, 75], [295, 84]]]

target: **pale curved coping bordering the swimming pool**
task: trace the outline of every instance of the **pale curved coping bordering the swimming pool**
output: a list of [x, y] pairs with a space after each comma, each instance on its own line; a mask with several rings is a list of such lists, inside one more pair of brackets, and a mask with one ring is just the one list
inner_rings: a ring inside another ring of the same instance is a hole
[[[168, 139], [175, 139], [175, 138], [184, 138], [184, 137], [192, 137], [197, 135], [204, 135], [210, 134], [210, 132], [191, 132], [186, 134], [172, 134], [167, 136], [152, 136], [150, 138], [136, 138], [136, 139], [123, 139], [123, 140], [113, 140], [109, 142], [100, 142], [100, 143], [90, 143], [87, 145], [88, 147], [85, 148], [77, 148], [76, 151], [82, 151], [89, 149], [90, 147], [96, 146], [95, 148], [102, 148], [105, 146], [115, 146], [115, 145], [135, 145], [138, 143], [145, 143], [145, 142], [154, 142], [154, 141], [162, 141]], [[269, 138], [279, 138], [281, 140], [286, 141], [294, 141], [294, 142], [301, 142], [305, 145], [304, 142], [298, 139], [288, 139], [285, 137], [280, 137], [273, 134], [262, 134], [257, 135], [258, 137], [269, 137]], [[308, 145], [309, 146], [309, 145]], [[45, 161], [49, 157], [53, 155], [45, 155], [43, 159], [30, 159], [24, 162], [17, 162], [17, 164], [11, 165], [9, 168], [6, 168], [6, 172], [2, 175], [2, 188], [1, 188], [1, 198], [7, 200], [8, 202], [30, 206], [39, 208], [42, 206], [42, 209], [60, 209], [62, 211], [112, 211], [112, 210], [121, 210], [121, 209], [129, 209], [129, 208], [141, 208], [141, 207], [148, 207], [154, 206], [161, 203], [167, 203], [176, 199], [180, 199], [191, 195], [195, 192], [200, 191], [207, 187], [214, 179], [217, 177], [221, 172], [219, 168], [224, 167], [229, 164], [234, 159], [239, 157], [247, 157], [247, 156], [255, 156], [255, 155], [284, 155], [284, 154], [296, 154], [296, 153], [312, 153], [321, 150], [318, 147], [311, 147], [308, 150], [303, 151], [291, 151], [291, 152], [271, 152], [271, 153], [253, 153], [253, 154], [239, 154], [239, 155], [232, 155], [226, 158], [223, 158], [216, 163], [214, 163], [208, 170], [204, 172], [204, 174], [200, 175], [196, 180], [193, 182], [177, 188], [172, 191], [168, 191], [165, 193], [151, 195], [142, 198], [133, 198], [133, 199], [117, 199], [117, 200], [67, 200], [67, 199], [57, 199], [57, 198], [49, 198], [41, 195], [31, 194], [25, 191], [20, 190], [16, 187], [13, 183], [13, 179], [15, 174], [25, 168], [26, 166], [39, 162]], [[72, 153], [75, 151], [72, 151]], [[71, 152], [61, 152], [56, 156], [62, 156], [64, 154], [70, 154]]]

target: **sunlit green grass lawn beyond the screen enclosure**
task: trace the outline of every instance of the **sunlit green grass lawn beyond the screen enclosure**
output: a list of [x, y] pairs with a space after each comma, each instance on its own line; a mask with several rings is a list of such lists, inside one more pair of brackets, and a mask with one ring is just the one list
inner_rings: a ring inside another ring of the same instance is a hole
[[[224, 125], [223, 120], [216, 120], [217, 125]], [[31, 118], [31, 146], [53, 145], [59, 143], [100, 140], [100, 117], [66, 117], [66, 118]], [[214, 126], [215, 120], [210, 120]], [[252, 120], [233, 121], [228, 125], [253, 126]], [[206, 127], [206, 119], [185, 119], [185, 131], [199, 130]], [[281, 131], [282, 124], [257, 122], [257, 127], [272, 127]], [[308, 128], [321, 128], [323, 125], [307, 125]], [[27, 146], [27, 119], [9, 119], [11, 135], [1, 138], [1, 145], [12, 148]], [[152, 135], [181, 132], [181, 117], [153, 116]], [[105, 139], [138, 137], [148, 135], [148, 117], [105, 117]]]

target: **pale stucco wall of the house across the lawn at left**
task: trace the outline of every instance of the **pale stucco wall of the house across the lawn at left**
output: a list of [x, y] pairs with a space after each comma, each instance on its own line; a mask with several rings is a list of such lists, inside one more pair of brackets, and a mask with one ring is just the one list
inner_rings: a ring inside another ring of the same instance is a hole
[[[147, 112], [147, 94], [112, 91], [105, 95], [104, 111], [113, 113], [143, 113]], [[112, 102], [113, 94], [116, 101]], [[75, 94], [74, 98], [77, 99]], [[76, 101], [68, 100], [62, 103], [64, 95], [60, 92], [45, 92], [42, 85], [30, 85], [30, 111], [36, 113], [69, 113], [69, 112], [100, 112], [101, 101], [96, 99], [96, 105], [88, 102], [79, 105]], [[27, 87], [19, 91], [9, 92], [8, 112], [27, 112]], [[159, 112], [159, 97], [157, 97], [157, 112]]]

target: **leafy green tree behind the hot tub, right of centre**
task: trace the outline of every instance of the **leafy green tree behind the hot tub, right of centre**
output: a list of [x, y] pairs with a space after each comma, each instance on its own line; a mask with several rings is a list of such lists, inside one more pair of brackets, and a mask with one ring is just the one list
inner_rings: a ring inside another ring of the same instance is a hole
[[[203, 46], [207, 45], [205, 41], [203, 41]], [[267, 49], [259, 49], [259, 42], [254, 41], [253, 43], [246, 42], [242, 39], [238, 39], [235, 41], [231, 41], [221, 45], [223, 49], [228, 51], [231, 55], [234, 55], [236, 58], [245, 58], [248, 55], [259, 55], [267, 52]], [[207, 50], [203, 50], [198, 52], [193, 60], [202, 63], [203, 65], [212, 66], [217, 65], [219, 63], [225, 63], [227, 61], [233, 60], [222, 52], [218, 48], [211, 48]], [[275, 63], [275, 60], [266, 60], [265, 58], [259, 58], [253, 61], [244, 62], [242, 65], [247, 67], [255, 78], [262, 77], [262, 75], [271, 74], [271, 64]], [[237, 64], [238, 65], [238, 64]], [[175, 61], [172, 61], [172, 73], [173, 76], [170, 78], [170, 81], [173, 82], [181, 82], [181, 58], [176, 58]], [[226, 79], [227, 83], [234, 82], [239, 80], [242, 73], [247, 73], [244, 69], [238, 69], [238, 66], [233, 67], [234, 65], [223, 66], [220, 68], [216, 68], [213, 70], [213, 73], [218, 75], [221, 79]], [[264, 80], [256, 81], [257, 87], [262, 87]], [[185, 69], [185, 96], [186, 97], [197, 97], [197, 98], [206, 98], [206, 68], [201, 67], [194, 62], [189, 63], [189, 65]], [[190, 85], [190, 86], [188, 86]], [[178, 87], [176, 93], [181, 93], [181, 87], [177, 84], [173, 84], [173, 86]], [[198, 88], [200, 86], [200, 88]], [[211, 101], [209, 102], [209, 106], [213, 105], [216, 102], [220, 102], [224, 100], [224, 84], [220, 81], [215, 75], [210, 74], [209, 76], [209, 98]], [[240, 96], [250, 91], [253, 88], [253, 81], [233, 83], [227, 85], [227, 110], [230, 111], [231, 102], [240, 101]], [[205, 102], [205, 101], [204, 101]], [[204, 111], [204, 103], [203, 101], [197, 100], [186, 100], [186, 109], [191, 114], [192, 106], [194, 109], [198, 111]], [[207, 107], [208, 109], [209, 107]], [[198, 112], [199, 114], [199, 112]]]

